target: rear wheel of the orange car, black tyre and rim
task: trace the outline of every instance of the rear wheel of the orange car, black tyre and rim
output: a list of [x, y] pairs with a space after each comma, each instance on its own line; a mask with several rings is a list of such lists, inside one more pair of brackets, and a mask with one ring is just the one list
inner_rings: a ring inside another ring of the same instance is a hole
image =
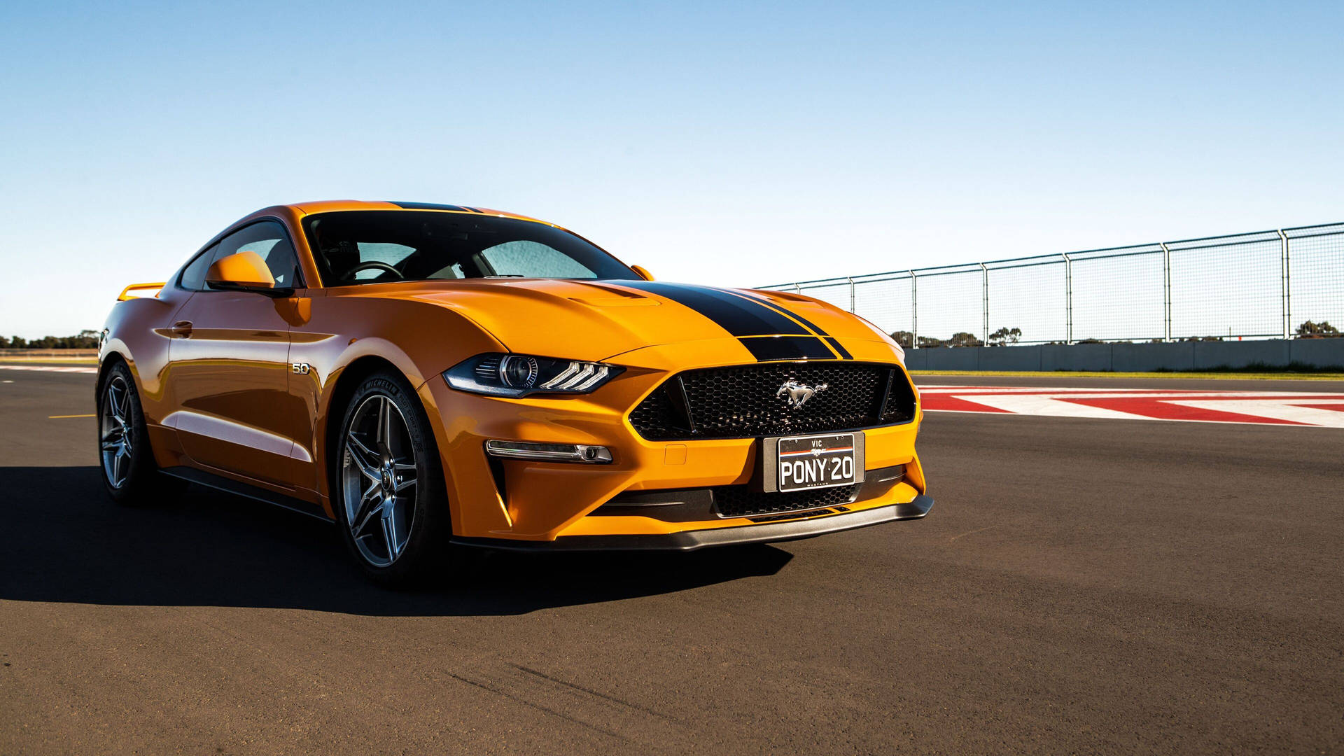
[[128, 507], [160, 504], [185, 486], [159, 472], [130, 367], [118, 362], [98, 387], [98, 461], [102, 487]]

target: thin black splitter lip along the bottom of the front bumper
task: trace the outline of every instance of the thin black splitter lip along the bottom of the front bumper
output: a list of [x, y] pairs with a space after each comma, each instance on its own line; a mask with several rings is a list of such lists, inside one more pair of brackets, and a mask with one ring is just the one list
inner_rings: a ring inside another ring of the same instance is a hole
[[[511, 552], [694, 552], [706, 546], [743, 543], [777, 543], [840, 533], [898, 519], [919, 519], [933, 508], [933, 498], [923, 494], [903, 504], [851, 511], [788, 522], [683, 530], [644, 535], [560, 535], [555, 541], [516, 541], [507, 538], [453, 538], [462, 546], [504, 549]], [[801, 515], [805, 517], [805, 515]], [[774, 518], [778, 519], [778, 518]]]

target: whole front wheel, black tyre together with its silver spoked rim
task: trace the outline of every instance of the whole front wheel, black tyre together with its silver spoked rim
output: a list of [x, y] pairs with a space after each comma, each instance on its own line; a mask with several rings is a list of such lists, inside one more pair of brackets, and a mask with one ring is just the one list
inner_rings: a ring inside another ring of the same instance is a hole
[[439, 464], [406, 379], [366, 378], [345, 408], [331, 491], [345, 546], [376, 582], [409, 587], [445, 564], [452, 526]]

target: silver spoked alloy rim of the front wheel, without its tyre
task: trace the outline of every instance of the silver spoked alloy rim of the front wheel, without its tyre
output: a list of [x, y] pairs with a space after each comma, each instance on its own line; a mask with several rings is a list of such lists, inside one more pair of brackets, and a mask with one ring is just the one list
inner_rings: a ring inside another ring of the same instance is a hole
[[406, 418], [387, 395], [355, 408], [341, 443], [345, 523], [360, 556], [388, 566], [406, 549], [415, 513], [415, 448]]

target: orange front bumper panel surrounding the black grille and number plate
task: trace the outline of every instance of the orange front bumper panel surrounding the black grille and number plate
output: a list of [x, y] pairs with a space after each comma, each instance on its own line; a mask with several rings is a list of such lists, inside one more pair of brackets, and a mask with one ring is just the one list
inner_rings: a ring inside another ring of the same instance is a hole
[[[751, 483], [761, 453], [758, 440], [650, 441], [626, 417], [630, 408], [679, 370], [737, 365], [731, 361], [741, 346], [735, 339], [728, 346], [731, 350], [720, 352], [715, 342], [694, 342], [621, 355], [612, 362], [626, 370], [593, 394], [582, 395], [511, 400], [457, 391], [439, 377], [426, 381], [419, 395], [442, 456], [454, 537], [462, 542], [559, 549], [577, 546], [555, 543], [613, 547], [609, 543], [637, 537], [640, 543], [665, 543], [634, 546], [640, 549], [696, 549], [719, 542], [805, 538], [832, 529], [918, 517], [909, 514], [918, 511], [911, 504], [925, 494], [923, 471], [914, 451], [922, 420], [918, 412], [910, 422], [863, 430], [866, 468], [902, 465], [905, 478], [848, 503], [840, 514], [810, 518], [800, 514], [763, 523], [737, 517], [673, 522], [636, 513], [597, 513], [618, 496]], [[853, 340], [845, 346], [856, 361], [898, 361], [883, 343]], [[492, 459], [485, 453], [489, 440], [601, 445], [610, 449], [613, 459], [607, 464]], [[863, 518], [851, 517], [879, 510]], [[895, 517], [896, 510], [906, 514]], [[849, 522], [853, 525], [845, 525]], [[711, 534], [716, 530], [726, 533]]]

